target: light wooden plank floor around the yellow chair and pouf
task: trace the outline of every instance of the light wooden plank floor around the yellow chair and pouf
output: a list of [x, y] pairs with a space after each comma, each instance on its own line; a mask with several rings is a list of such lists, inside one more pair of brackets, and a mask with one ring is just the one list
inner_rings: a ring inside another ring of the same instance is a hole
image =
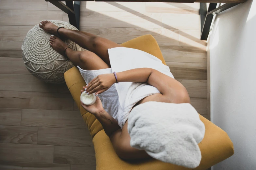
[[[41, 82], [21, 58], [28, 30], [68, 16], [44, 0], [1, 0], [0, 16], [0, 169], [94, 170], [92, 138], [66, 85]], [[210, 118], [198, 3], [81, 2], [80, 26], [120, 44], [153, 35], [192, 105]]]

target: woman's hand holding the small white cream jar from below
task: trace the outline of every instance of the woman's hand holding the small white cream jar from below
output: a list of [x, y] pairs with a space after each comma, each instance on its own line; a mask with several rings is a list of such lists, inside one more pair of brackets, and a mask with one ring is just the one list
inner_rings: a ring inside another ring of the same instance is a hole
[[[83, 87], [83, 89], [85, 89], [85, 87]], [[81, 90], [81, 93], [84, 92], [83, 90]], [[96, 102], [92, 105], [85, 105], [82, 103], [82, 101], [80, 100], [81, 102], [81, 106], [88, 112], [92, 113], [94, 116], [102, 113], [104, 110], [103, 106], [102, 106], [102, 103], [100, 101], [100, 98], [97, 96], [96, 98]]]

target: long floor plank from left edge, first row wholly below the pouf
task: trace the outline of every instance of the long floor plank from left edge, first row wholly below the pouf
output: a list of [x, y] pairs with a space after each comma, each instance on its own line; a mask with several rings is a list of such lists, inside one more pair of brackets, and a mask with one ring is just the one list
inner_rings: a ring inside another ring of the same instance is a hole
[[0, 107], [73, 110], [68, 93], [0, 91]]

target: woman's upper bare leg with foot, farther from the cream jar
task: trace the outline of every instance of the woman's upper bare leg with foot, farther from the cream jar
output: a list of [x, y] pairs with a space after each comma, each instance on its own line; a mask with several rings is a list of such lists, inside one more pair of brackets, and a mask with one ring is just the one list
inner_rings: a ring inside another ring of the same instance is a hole
[[[54, 25], [50, 21], [42, 21], [41, 24], [42, 25], [40, 25], [40, 27], [44, 31], [57, 35], [58, 27], [56, 25]], [[122, 47], [121, 45], [113, 41], [110, 41], [106, 38], [102, 38], [94, 34], [83, 32], [83, 31], [60, 28], [58, 33], [60, 34], [61, 37], [70, 39], [71, 41], [74, 41], [82, 48], [85, 48], [87, 50], [94, 52], [109, 66], [110, 66], [110, 61], [109, 61], [108, 49], [111, 49], [114, 47]]]

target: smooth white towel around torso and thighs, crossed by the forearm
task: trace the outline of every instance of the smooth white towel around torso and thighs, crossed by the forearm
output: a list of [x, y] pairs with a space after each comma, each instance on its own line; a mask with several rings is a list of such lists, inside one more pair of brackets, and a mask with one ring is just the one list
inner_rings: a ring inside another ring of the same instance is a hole
[[[134, 68], [153, 68], [174, 78], [170, 68], [157, 57], [142, 50], [116, 47], [108, 49], [112, 71], [122, 72]], [[118, 78], [117, 78], [118, 79]], [[132, 107], [146, 96], [160, 93], [157, 88], [146, 83], [120, 82], [115, 83], [119, 97], [117, 121], [121, 128], [128, 119]]]

